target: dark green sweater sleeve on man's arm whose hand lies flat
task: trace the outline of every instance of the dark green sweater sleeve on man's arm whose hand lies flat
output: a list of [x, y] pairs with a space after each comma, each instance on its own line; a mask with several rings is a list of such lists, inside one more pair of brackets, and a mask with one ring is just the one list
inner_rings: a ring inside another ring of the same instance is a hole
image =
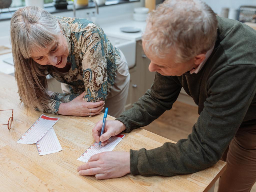
[[131, 174], [173, 176], [214, 165], [255, 97], [255, 74], [253, 65], [230, 65], [211, 76], [207, 83], [209, 96], [188, 138], [152, 150], [130, 150]]

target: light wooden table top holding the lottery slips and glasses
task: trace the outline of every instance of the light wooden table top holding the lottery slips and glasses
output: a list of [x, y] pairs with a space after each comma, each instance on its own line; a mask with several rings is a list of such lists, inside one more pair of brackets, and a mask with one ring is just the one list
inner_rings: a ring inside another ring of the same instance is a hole
[[[224, 172], [226, 163], [219, 161], [212, 167], [194, 174], [173, 177], [127, 174], [121, 178], [97, 180], [94, 176], [80, 176], [77, 158], [94, 142], [92, 128], [103, 114], [89, 117], [60, 117], [54, 130], [62, 146], [58, 153], [39, 156], [35, 144], [18, 144], [17, 140], [41, 115], [19, 105], [15, 78], [0, 73], [0, 109], [14, 109], [12, 129], [1, 126], [0, 191], [208, 191]], [[0, 123], [7, 123], [11, 111], [0, 111]], [[108, 116], [107, 119], [114, 119]], [[114, 151], [152, 149], [173, 142], [143, 129], [126, 134]], [[175, 155], [175, 154], [174, 154]]]

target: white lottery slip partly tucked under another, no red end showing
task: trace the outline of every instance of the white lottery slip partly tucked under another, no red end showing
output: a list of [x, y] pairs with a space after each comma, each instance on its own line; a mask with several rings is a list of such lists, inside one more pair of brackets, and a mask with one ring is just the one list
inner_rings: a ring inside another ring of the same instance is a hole
[[39, 155], [47, 155], [62, 150], [53, 127], [36, 143], [36, 148]]

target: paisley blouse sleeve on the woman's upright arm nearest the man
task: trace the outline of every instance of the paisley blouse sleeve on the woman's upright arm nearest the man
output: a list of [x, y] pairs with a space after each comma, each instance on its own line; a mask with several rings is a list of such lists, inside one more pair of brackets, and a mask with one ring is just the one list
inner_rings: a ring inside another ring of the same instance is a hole
[[107, 67], [104, 51], [104, 38], [98, 28], [86, 31], [84, 52], [82, 53], [82, 70], [84, 82], [84, 100], [88, 102], [105, 101], [107, 98]]

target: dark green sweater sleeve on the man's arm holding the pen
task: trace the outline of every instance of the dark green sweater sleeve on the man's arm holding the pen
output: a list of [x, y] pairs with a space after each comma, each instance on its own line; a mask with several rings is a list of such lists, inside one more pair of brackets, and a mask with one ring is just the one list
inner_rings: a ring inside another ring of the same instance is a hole
[[156, 72], [151, 89], [116, 120], [125, 124], [126, 132], [146, 126], [172, 108], [180, 90], [181, 85], [171, 76], [163, 76]]

